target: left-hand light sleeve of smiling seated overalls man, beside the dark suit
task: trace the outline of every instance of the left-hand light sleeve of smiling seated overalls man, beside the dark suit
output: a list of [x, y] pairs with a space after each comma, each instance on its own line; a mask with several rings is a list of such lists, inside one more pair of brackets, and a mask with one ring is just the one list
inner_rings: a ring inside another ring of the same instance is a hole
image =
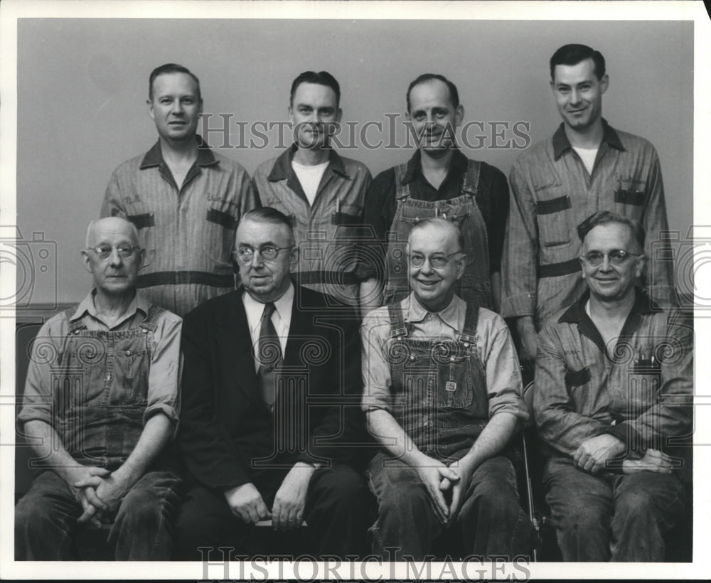
[[390, 322], [387, 308], [379, 308], [365, 316], [360, 326], [361, 350], [363, 351], [363, 398], [360, 407], [368, 412], [383, 409], [391, 412], [390, 363], [387, 360], [387, 342], [390, 338]]

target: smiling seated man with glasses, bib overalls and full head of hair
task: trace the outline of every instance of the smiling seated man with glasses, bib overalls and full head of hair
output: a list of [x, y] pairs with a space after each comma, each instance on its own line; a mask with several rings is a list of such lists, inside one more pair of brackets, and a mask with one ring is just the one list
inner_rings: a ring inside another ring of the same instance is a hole
[[528, 417], [513, 342], [501, 316], [455, 294], [464, 237], [428, 218], [407, 239], [409, 296], [363, 320], [363, 401], [382, 446], [370, 463], [379, 515], [373, 553], [431, 558], [445, 528], [464, 552], [514, 557], [530, 549], [507, 454]]

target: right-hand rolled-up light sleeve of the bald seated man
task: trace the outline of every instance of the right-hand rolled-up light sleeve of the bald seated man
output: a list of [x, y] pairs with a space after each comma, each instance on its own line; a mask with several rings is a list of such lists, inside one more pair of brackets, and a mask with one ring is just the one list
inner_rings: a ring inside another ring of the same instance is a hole
[[182, 319], [171, 312], [164, 312], [159, 320], [148, 375], [148, 403], [143, 414], [144, 423], [156, 413], [166, 415], [173, 424], [173, 437], [180, 413], [182, 326]]

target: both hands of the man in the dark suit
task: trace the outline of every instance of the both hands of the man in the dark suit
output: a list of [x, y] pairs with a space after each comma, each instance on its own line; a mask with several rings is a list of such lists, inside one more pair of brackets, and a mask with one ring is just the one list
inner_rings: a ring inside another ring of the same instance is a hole
[[269, 511], [262, 494], [252, 482], [230, 488], [225, 492], [232, 514], [245, 524], [256, 524], [260, 520], [272, 519], [272, 528], [284, 533], [299, 528], [304, 522], [306, 493], [309, 481], [316, 468], [311, 464], [297, 462], [279, 486], [272, 510]]

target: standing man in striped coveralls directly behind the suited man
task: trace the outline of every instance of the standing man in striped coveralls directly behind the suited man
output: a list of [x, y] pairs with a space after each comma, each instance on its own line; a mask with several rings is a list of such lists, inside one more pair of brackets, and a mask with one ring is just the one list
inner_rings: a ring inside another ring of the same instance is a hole
[[255, 172], [264, 206], [289, 217], [296, 236], [299, 285], [358, 306], [356, 247], [370, 172], [339, 156], [331, 136], [341, 122], [341, 87], [327, 71], [305, 71], [292, 82], [289, 118], [294, 144]]

